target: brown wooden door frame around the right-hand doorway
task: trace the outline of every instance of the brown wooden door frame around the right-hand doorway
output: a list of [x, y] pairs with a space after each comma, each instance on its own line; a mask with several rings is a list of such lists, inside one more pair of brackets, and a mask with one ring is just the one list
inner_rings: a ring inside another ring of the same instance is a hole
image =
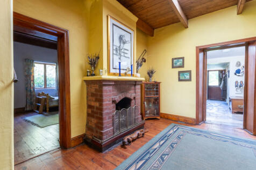
[[[256, 36], [252, 38], [239, 39], [233, 41], [226, 41], [221, 43], [214, 43], [210, 45], [196, 47], [196, 124], [201, 124], [206, 119], [206, 86], [207, 86], [207, 52], [206, 50], [215, 50], [221, 48], [232, 48], [239, 46], [246, 46], [245, 53], [245, 87], [244, 99], [247, 97], [247, 43], [256, 41]], [[255, 71], [256, 76], [256, 71]], [[256, 96], [256, 91], [252, 92]], [[244, 102], [244, 120], [246, 120], [246, 102]], [[254, 105], [256, 110], [256, 104]], [[244, 121], [244, 128], [246, 126]], [[256, 135], [256, 113], [254, 113], [254, 128], [253, 135]]]

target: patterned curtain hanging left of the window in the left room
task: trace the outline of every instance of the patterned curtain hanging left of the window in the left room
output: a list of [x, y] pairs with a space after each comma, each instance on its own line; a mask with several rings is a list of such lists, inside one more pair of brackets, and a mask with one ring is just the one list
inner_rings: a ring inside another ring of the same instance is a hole
[[25, 110], [34, 109], [34, 61], [25, 59], [26, 107]]

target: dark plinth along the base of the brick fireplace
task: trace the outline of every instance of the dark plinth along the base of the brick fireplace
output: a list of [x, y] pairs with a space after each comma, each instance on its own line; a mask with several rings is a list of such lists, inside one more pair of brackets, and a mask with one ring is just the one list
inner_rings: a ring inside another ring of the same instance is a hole
[[136, 127], [133, 127], [131, 129], [123, 132], [122, 134], [119, 134], [115, 137], [112, 137], [104, 143], [99, 143], [98, 141], [96, 141], [94, 139], [88, 139], [88, 138], [85, 138], [84, 142], [87, 145], [89, 145], [90, 147], [93, 147], [94, 149], [96, 149], [100, 152], [104, 152], [104, 151], [108, 150], [110, 147], [112, 147], [112, 146], [118, 144], [119, 142], [121, 142], [123, 140], [123, 137], [132, 134], [136, 130], [143, 129], [144, 125], [145, 125], [145, 121], [142, 121]]

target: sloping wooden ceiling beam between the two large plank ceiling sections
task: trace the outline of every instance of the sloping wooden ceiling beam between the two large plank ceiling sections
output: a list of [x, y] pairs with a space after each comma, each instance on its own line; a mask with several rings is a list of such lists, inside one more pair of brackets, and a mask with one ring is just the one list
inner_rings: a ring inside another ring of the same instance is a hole
[[174, 12], [176, 13], [177, 17], [180, 19], [184, 27], [188, 28], [188, 19], [182, 11], [180, 3], [177, 0], [168, 0], [168, 2], [170, 5], [172, 5]]

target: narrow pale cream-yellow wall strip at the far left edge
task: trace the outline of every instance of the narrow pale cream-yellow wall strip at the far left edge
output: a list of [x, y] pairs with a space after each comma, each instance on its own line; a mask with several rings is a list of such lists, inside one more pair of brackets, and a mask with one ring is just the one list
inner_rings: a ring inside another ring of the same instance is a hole
[[12, 1], [0, 1], [0, 169], [13, 169]]

